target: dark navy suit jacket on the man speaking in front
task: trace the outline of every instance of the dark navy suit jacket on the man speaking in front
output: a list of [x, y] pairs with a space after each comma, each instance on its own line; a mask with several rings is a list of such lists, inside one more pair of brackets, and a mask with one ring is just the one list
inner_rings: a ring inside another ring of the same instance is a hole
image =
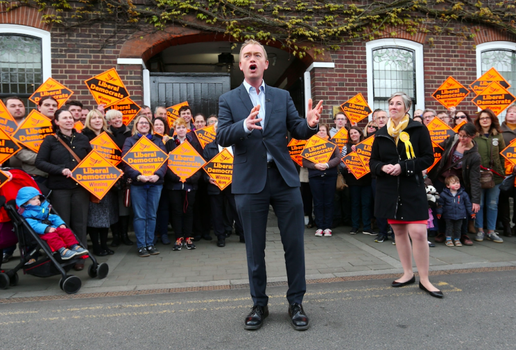
[[226, 92], [218, 99], [216, 141], [223, 147], [234, 145], [232, 193], [259, 193], [267, 180], [267, 151], [290, 187], [299, 187], [299, 175], [286, 147], [287, 131], [298, 140], [309, 139], [311, 129], [295, 110], [289, 91], [265, 87], [265, 125], [248, 134], [243, 123], [252, 110], [244, 85]]

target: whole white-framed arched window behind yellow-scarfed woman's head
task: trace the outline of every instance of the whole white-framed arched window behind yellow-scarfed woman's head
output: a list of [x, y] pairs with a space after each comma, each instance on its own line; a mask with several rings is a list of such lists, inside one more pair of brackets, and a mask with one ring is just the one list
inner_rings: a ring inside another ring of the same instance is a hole
[[404, 39], [379, 39], [365, 44], [368, 72], [368, 104], [388, 111], [387, 100], [403, 91], [415, 110], [424, 110], [423, 45]]

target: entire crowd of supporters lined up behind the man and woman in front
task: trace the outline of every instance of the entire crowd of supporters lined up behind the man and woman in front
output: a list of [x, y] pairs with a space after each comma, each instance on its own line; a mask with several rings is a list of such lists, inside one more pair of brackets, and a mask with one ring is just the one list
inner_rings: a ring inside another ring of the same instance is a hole
[[[21, 123], [26, 117], [22, 100], [10, 97], [4, 103], [15, 121]], [[80, 243], [85, 245], [89, 235], [93, 254], [114, 254], [110, 247], [122, 243], [132, 245], [128, 237], [131, 217], [139, 256], [159, 254], [155, 247], [157, 242], [172, 244], [175, 251], [195, 249], [193, 242], [212, 240], [211, 229], [218, 247], [225, 246], [225, 238], [232, 234], [233, 229], [240, 241], [245, 242], [231, 186], [221, 191], [203, 170], [181, 182], [166, 163], [151, 176], [141, 175], [121, 163], [123, 180], [100, 201], [90, 200], [87, 190], [70, 177], [71, 170], [92, 150], [89, 142], [101, 132], [112, 138], [122, 150], [122, 155], [140, 137], [147, 137], [166, 153], [189, 141], [208, 161], [223, 147], [213, 141], [202, 148], [193, 131], [207, 125], [216, 126], [216, 115], [206, 118], [183, 106], [179, 110], [180, 118], [173, 128], [169, 128], [164, 107], [156, 107], [152, 111], [150, 107], [143, 106], [130, 128], [122, 123], [121, 112], [106, 111], [102, 105], [88, 110], [79, 101], [69, 100], [58, 110], [58, 102], [46, 96], [39, 101], [37, 110], [53, 121], [55, 136], [46, 137], [37, 153], [22, 146], [22, 150], [9, 159], [9, 164], [3, 166], [22, 168], [40, 186], [52, 190], [50, 200], [53, 207], [75, 232]], [[359, 128], [352, 125], [343, 112], [338, 112], [331, 128], [330, 125], [319, 124], [319, 137], [332, 139], [341, 128], [345, 128], [348, 140], [343, 148], [336, 148], [327, 163], [314, 164], [304, 159], [299, 168], [305, 225], [314, 227], [316, 236], [331, 237], [334, 227], [345, 225], [351, 227], [350, 234], [366, 234], [375, 236], [377, 243], [392, 240], [396, 244], [388, 220], [374, 214], [375, 202], [381, 202], [385, 195], [377, 189], [377, 172], [372, 170], [357, 180], [342, 161], [345, 155], [355, 150], [357, 143], [384, 128], [390, 116], [391, 111], [375, 110], [367, 125]], [[472, 119], [470, 114], [454, 107], [445, 112], [415, 110], [412, 121], [426, 126], [434, 118], [451, 128], [463, 121], [466, 123], [457, 134], [440, 143], [440, 161], [429, 173], [423, 172], [424, 179], [418, 179], [427, 184], [427, 236], [435, 236], [436, 243], [450, 247], [472, 245], [468, 234], [474, 234], [474, 240], [479, 242], [503, 243], [495, 230], [501, 227], [504, 236], [513, 235], [509, 198], [513, 198], [514, 187], [501, 192], [499, 186], [515, 168], [500, 152], [516, 138], [516, 105], [508, 107], [501, 125], [490, 110], [483, 110]], [[83, 123], [83, 129], [77, 132], [74, 125], [79, 121]], [[233, 147], [227, 147], [227, 150], [234, 151]], [[342, 191], [336, 189], [339, 174], [346, 184]], [[484, 178], [489, 178], [490, 182], [484, 182]], [[126, 191], [128, 189], [130, 191]], [[127, 193], [130, 193], [130, 198]], [[515, 218], [512, 222], [516, 222]], [[175, 234], [173, 240], [169, 238], [169, 224]], [[109, 230], [112, 232], [110, 245]], [[428, 239], [427, 244], [434, 246]], [[13, 250], [4, 250], [4, 261], [12, 256]], [[76, 265], [77, 270], [82, 268], [80, 264]]]

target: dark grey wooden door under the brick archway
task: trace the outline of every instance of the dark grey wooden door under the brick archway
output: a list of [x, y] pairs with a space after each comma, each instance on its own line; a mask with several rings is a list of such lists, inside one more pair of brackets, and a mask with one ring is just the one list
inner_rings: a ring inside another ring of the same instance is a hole
[[203, 113], [207, 118], [218, 113], [218, 97], [227, 91], [229, 73], [150, 73], [153, 110], [188, 101], [193, 114]]

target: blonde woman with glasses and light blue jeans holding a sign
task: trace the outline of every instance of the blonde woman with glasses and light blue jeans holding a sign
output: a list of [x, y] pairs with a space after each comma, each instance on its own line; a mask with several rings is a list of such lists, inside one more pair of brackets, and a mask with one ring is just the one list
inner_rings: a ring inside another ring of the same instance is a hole
[[[162, 140], [153, 134], [153, 130], [153, 123], [147, 116], [143, 114], [137, 116], [132, 127], [132, 137], [128, 137], [123, 143], [122, 157], [132, 146], [135, 146], [141, 137], [146, 137], [163, 152], [166, 152]], [[132, 180], [130, 185], [131, 202], [132, 210], [135, 212], [134, 226], [138, 255], [141, 257], [160, 254], [154, 247], [154, 230], [157, 205], [160, 202], [166, 168], [165, 162], [153, 175], [143, 175], [128, 164], [124, 164], [126, 176]]]

